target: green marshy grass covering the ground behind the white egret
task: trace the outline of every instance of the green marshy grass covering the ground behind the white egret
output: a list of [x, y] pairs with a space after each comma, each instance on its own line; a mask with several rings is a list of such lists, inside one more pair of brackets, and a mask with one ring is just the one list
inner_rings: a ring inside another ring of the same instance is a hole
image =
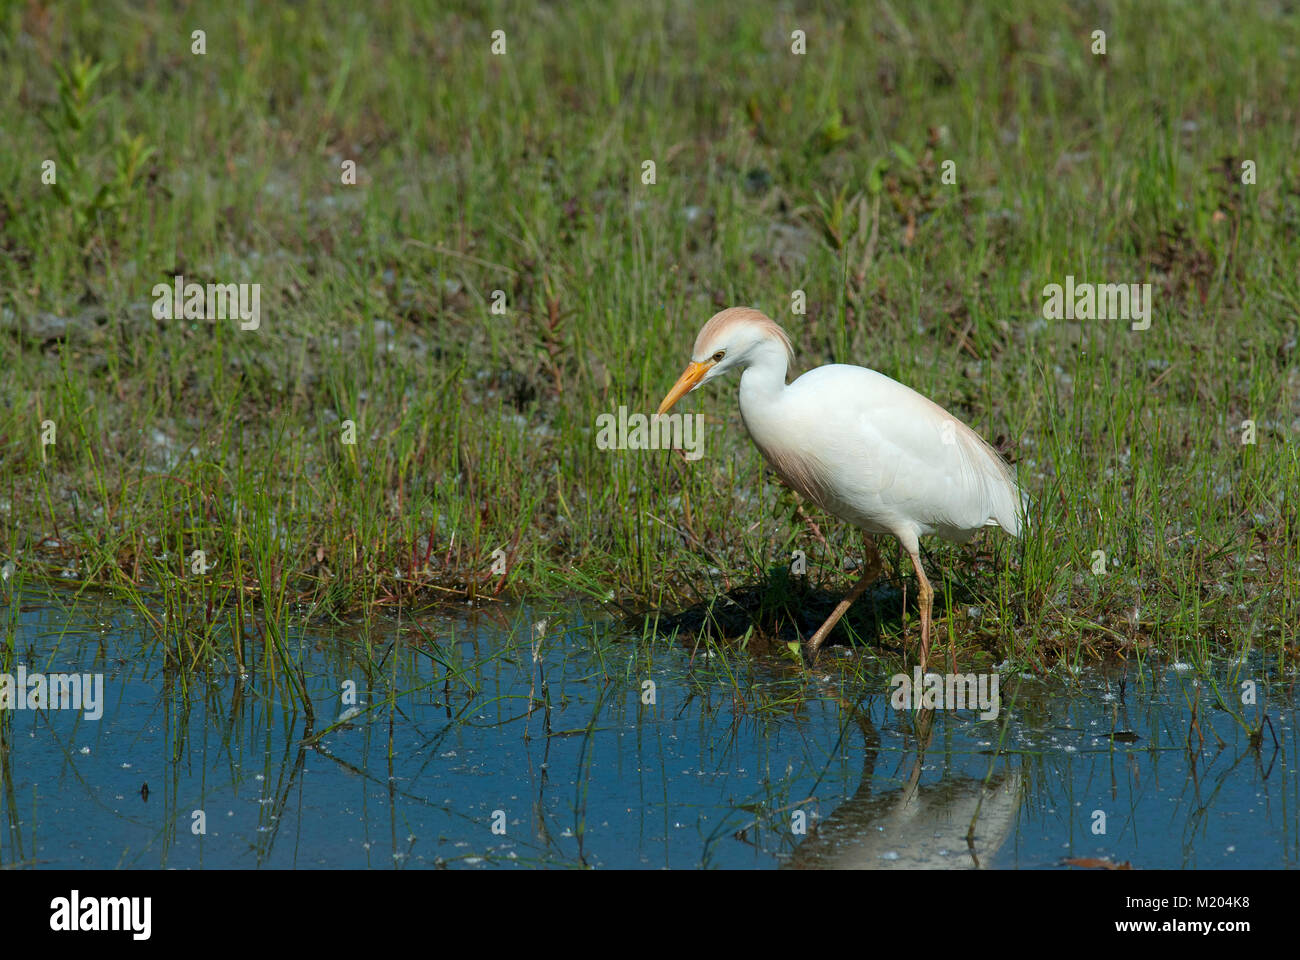
[[[753, 304], [794, 372], [880, 369], [1018, 462], [1023, 544], [927, 544], [939, 643], [1294, 660], [1300, 20], [935, 7], [0, 3], [4, 589], [113, 589], [183, 658], [490, 596], [758, 583], [788, 620], [771, 571], [846, 589], [857, 535], [809, 535], [734, 382], [684, 405], [701, 460], [594, 442]], [[261, 327], [155, 320], [176, 273], [260, 284]], [[1150, 329], [1044, 320], [1066, 274], [1150, 282]]]

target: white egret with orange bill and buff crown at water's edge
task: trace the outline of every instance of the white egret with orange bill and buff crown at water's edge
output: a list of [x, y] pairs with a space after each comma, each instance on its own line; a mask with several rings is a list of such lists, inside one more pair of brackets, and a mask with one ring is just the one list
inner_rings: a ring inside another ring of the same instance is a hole
[[[993, 447], [911, 388], [844, 363], [816, 367], [786, 384], [793, 359], [785, 330], [757, 310], [731, 307], [699, 330], [690, 363], [658, 412], [740, 369], [740, 415], [772, 470], [827, 513], [867, 535], [890, 533], [907, 552], [919, 585], [924, 667], [933, 589], [920, 566], [920, 537], [936, 533], [966, 542], [983, 527], [1019, 536], [1027, 497]], [[878, 572], [879, 563], [867, 565], [809, 639], [810, 656]], [[950, 657], [956, 661], [952, 650]]]

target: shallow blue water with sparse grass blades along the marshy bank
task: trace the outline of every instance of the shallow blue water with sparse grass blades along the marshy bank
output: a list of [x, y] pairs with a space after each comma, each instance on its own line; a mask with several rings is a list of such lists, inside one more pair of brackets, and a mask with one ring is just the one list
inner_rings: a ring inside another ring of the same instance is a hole
[[[870, 649], [809, 675], [580, 607], [468, 617], [291, 633], [308, 717], [269, 645], [182, 673], [130, 609], [29, 598], [0, 674], [103, 674], [104, 702], [0, 710], [0, 866], [1300, 861], [1295, 678], [1249, 658], [1005, 673], [980, 721], [893, 709]], [[1260, 749], [1214, 684], [1269, 714]]]

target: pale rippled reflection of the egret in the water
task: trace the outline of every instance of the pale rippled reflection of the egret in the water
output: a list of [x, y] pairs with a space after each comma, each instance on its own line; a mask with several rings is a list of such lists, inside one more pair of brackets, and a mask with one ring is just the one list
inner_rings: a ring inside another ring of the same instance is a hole
[[[928, 726], [922, 712], [918, 719]], [[900, 790], [872, 795], [871, 778], [880, 740], [858, 713], [867, 738], [858, 791], [818, 822], [788, 866], [838, 870], [966, 870], [988, 866], [1015, 826], [1023, 779], [1018, 770], [987, 782], [945, 778], [920, 786], [924, 744]], [[928, 740], [928, 735], [923, 741]]]

